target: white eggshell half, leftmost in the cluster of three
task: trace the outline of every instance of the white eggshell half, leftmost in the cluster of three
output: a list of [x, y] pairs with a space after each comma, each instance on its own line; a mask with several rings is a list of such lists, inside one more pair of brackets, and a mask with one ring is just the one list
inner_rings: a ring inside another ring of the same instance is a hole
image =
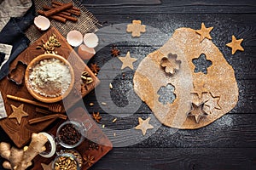
[[69, 31], [67, 33], [67, 42], [73, 47], [78, 47], [83, 42], [83, 35], [77, 30]]

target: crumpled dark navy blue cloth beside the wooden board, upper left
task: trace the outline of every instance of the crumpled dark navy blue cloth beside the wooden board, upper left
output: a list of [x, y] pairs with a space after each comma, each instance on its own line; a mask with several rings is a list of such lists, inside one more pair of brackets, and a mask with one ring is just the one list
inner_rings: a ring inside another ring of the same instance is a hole
[[12, 52], [9, 60], [3, 65], [0, 71], [0, 80], [9, 73], [9, 64], [27, 48], [29, 39], [26, 37], [24, 31], [32, 25], [35, 17], [35, 6], [32, 7], [22, 17], [11, 18], [3, 30], [0, 32], [0, 43], [12, 45]]

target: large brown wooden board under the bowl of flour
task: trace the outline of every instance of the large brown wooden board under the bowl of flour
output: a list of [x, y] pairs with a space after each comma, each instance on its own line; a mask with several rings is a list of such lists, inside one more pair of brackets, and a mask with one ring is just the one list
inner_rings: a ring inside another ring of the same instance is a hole
[[[26, 48], [26, 50], [23, 51], [12, 62], [9, 68], [9, 77], [13, 81], [10, 81], [8, 77], [5, 77], [0, 82], [0, 90], [3, 96], [5, 109], [8, 115], [10, 115], [13, 112], [10, 105], [15, 105], [16, 107], [18, 107], [23, 103], [12, 99], [7, 99], [7, 94], [11, 94], [25, 99], [36, 100], [33, 99], [32, 95], [28, 93], [26, 86], [24, 84], [24, 73], [26, 70], [26, 65], [28, 65], [30, 61], [38, 55], [44, 54], [44, 49], [37, 49], [37, 46], [42, 44], [42, 40], [44, 40], [44, 42], [48, 41], [49, 37], [53, 34], [55, 34], [58, 41], [61, 42], [61, 47], [55, 48], [55, 51], [57, 51], [59, 55], [61, 55], [69, 61], [69, 63], [73, 66], [73, 71], [75, 74], [75, 83], [72, 92], [67, 96], [67, 98], [65, 98], [61, 102], [58, 102], [60, 105], [63, 105], [63, 102], [66, 101], [65, 107], [62, 107], [63, 109], [61, 112], [65, 113], [65, 111], [67, 111], [74, 104], [76, 104], [82, 97], [88, 94], [100, 82], [97, 79], [97, 77], [93, 74], [93, 72], [90, 71], [90, 68], [84, 64], [84, 61], [79, 58], [79, 55], [76, 54], [73, 48], [67, 43], [67, 40], [61, 35], [61, 33], [57, 31], [54, 27], [52, 27], [42, 37], [40, 37], [36, 42], [34, 42], [29, 48]], [[90, 77], [92, 77], [94, 81], [93, 83], [87, 86], [87, 90], [81, 93], [80, 76], [82, 71], [88, 71], [90, 73]], [[3, 127], [3, 130], [9, 135], [9, 138], [12, 139], [16, 146], [19, 148], [30, 141], [32, 133], [42, 132], [45, 127], [48, 127], [50, 123], [55, 121], [53, 119], [29, 125], [29, 119], [41, 117], [44, 115], [36, 112], [35, 105], [29, 105], [24, 103], [23, 110], [26, 111], [26, 113], [28, 113], [29, 116], [22, 117], [20, 125], [18, 124], [16, 119], [13, 118], [5, 118], [0, 121], [0, 125], [1, 127]]]

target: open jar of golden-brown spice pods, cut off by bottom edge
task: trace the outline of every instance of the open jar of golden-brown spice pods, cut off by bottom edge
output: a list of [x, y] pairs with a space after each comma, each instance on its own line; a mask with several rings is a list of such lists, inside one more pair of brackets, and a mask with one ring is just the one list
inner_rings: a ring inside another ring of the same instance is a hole
[[70, 153], [61, 153], [55, 157], [52, 163], [52, 169], [54, 170], [79, 170], [79, 161], [76, 156]]

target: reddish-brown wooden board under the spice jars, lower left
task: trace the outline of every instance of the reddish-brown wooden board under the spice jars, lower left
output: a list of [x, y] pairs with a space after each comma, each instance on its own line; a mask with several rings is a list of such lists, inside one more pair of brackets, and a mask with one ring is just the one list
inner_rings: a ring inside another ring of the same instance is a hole
[[[88, 139], [84, 139], [84, 142], [80, 144], [78, 147], [74, 148], [74, 150], [79, 151], [79, 154], [82, 157], [85, 156], [93, 156], [94, 162], [92, 162], [90, 165], [83, 160], [83, 167], [82, 169], [88, 169], [93, 164], [96, 163], [96, 161], [99, 161], [102, 156], [105, 156], [108, 151], [112, 150], [113, 144], [110, 142], [108, 137], [102, 132], [100, 127], [97, 126], [96, 122], [90, 117], [88, 112], [84, 111], [82, 107], [78, 107], [74, 109], [69, 115], [69, 118], [71, 120], [79, 119], [80, 122], [84, 122], [85, 120], [90, 120], [92, 126], [90, 127], [87, 135]], [[61, 125], [62, 122], [58, 122], [54, 127], [52, 127], [49, 131], [49, 133], [55, 135], [57, 128]], [[98, 143], [98, 149], [90, 149], [90, 140], [96, 141]], [[61, 148], [64, 149], [64, 148]], [[42, 156], [36, 156], [34, 158], [34, 167], [32, 169], [34, 170], [41, 170], [43, 169], [41, 166], [41, 163], [44, 163], [46, 165], [49, 165], [51, 161], [53, 161], [55, 156], [52, 156], [51, 158], [44, 158]]]

